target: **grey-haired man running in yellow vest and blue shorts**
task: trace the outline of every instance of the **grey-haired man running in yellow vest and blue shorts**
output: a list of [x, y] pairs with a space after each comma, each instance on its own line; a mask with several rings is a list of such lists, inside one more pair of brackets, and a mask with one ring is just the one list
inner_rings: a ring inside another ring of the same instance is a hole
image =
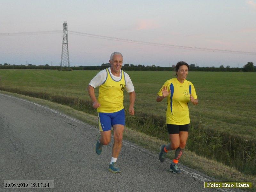
[[[109, 63], [111, 67], [100, 71], [93, 77], [88, 85], [88, 92], [93, 102], [92, 107], [97, 108], [100, 127], [95, 151], [100, 155], [102, 145], [108, 145], [111, 140], [111, 127], [113, 127], [114, 145], [108, 170], [120, 173], [116, 160], [122, 148], [125, 125], [124, 89], [130, 94], [129, 113], [131, 115], [134, 115], [135, 91], [130, 77], [121, 70], [123, 55], [119, 52], [112, 53]], [[100, 87], [98, 100], [94, 93], [96, 87]]]

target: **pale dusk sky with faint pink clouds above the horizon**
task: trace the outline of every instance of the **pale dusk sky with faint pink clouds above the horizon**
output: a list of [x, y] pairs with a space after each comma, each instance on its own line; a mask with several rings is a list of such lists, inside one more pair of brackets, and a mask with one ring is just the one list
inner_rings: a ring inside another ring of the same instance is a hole
[[[183, 46], [68, 33], [70, 66], [99, 66], [108, 63], [112, 52], [121, 52], [124, 63], [145, 66], [169, 67], [181, 60], [199, 67], [256, 65], [256, 0], [1, 0], [0, 18], [1, 64], [60, 65], [61, 31], [67, 21], [68, 31]], [[4, 35], [53, 30], [59, 32]]]

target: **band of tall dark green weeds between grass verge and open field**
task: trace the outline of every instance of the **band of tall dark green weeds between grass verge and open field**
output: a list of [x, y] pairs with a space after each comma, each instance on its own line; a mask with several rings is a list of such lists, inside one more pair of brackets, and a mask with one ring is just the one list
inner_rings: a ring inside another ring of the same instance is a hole
[[[50, 100], [92, 115], [97, 115], [90, 101], [82, 100], [78, 97], [65, 97], [43, 92], [28, 92], [5, 87], [0, 87], [0, 90]], [[148, 115], [145, 113], [137, 113], [136, 116], [129, 116], [126, 113], [126, 124], [134, 130], [144, 132], [168, 142], [165, 117], [163, 116]], [[200, 119], [193, 119], [190, 126], [187, 148], [196, 152], [198, 155], [215, 159], [231, 167], [235, 167], [246, 174], [256, 175], [256, 140], [248, 140], [230, 133], [216, 132], [202, 125]]]

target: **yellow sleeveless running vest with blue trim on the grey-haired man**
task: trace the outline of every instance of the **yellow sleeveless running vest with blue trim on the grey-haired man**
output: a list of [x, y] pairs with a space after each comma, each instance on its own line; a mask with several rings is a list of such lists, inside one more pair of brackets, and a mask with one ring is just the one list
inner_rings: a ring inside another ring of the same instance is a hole
[[121, 70], [121, 79], [114, 80], [107, 68], [107, 78], [105, 82], [100, 85], [98, 102], [100, 107], [97, 109], [101, 113], [114, 113], [124, 108], [124, 87], [125, 76], [124, 71]]

